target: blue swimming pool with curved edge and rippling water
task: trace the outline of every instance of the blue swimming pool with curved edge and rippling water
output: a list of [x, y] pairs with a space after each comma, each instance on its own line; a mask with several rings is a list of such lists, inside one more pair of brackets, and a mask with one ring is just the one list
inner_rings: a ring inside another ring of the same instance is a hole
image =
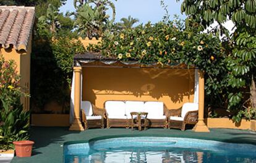
[[64, 162], [256, 162], [256, 146], [169, 137], [122, 137], [66, 144]]

